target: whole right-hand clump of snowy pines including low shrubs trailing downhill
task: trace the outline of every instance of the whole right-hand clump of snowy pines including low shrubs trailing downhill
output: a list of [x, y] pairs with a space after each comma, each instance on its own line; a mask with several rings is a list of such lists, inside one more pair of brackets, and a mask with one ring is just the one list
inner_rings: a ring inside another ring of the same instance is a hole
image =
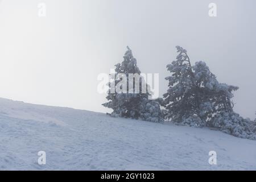
[[203, 61], [191, 65], [187, 51], [177, 46], [176, 60], [167, 65], [171, 76], [164, 94], [167, 119], [181, 125], [209, 126], [240, 138], [255, 138], [252, 121], [233, 111], [237, 86], [221, 84]]

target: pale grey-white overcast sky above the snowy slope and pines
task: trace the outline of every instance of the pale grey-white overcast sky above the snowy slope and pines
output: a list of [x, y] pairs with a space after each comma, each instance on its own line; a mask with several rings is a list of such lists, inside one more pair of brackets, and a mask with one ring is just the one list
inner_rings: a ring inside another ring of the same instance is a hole
[[[38, 16], [40, 2], [45, 18]], [[240, 86], [234, 109], [255, 118], [255, 6], [254, 0], [2, 0], [0, 97], [105, 112], [97, 76], [122, 61], [127, 45], [143, 73], [159, 73], [161, 95], [179, 45], [220, 82]]]

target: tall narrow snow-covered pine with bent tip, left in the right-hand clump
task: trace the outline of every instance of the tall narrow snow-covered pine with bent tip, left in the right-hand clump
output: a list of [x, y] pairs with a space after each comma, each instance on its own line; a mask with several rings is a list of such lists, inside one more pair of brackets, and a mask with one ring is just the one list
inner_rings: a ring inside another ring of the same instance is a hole
[[167, 65], [171, 76], [166, 77], [169, 88], [163, 95], [166, 118], [182, 125], [204, 126], [205, 122], [200, 118], [200, 96], [191, 62], [185, 49], [179, 46], [176, 48], [179, 55]]

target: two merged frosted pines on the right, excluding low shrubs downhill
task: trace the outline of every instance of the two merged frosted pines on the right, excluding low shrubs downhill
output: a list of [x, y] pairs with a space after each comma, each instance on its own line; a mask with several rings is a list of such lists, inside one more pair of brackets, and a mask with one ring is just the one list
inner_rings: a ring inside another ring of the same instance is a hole
[[176, 60], [167, 65], [171, 76], [166, 102], [167, 119], [189, 126], [205, 126], [214, 114], [232, 111], [232, 92], [238, 87], [220, 84], [209, 67], [198, 61], [191, 65], [187, 51], [177, 46]]

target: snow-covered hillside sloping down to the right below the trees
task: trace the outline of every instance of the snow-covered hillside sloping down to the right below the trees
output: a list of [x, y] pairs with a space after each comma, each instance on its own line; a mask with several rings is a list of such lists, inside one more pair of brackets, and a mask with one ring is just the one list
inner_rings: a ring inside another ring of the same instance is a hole
[[[217, 165], [208, 163], [212, 150]], [[0, 98], [0, 169], [255, 170], [256, 141]]]

